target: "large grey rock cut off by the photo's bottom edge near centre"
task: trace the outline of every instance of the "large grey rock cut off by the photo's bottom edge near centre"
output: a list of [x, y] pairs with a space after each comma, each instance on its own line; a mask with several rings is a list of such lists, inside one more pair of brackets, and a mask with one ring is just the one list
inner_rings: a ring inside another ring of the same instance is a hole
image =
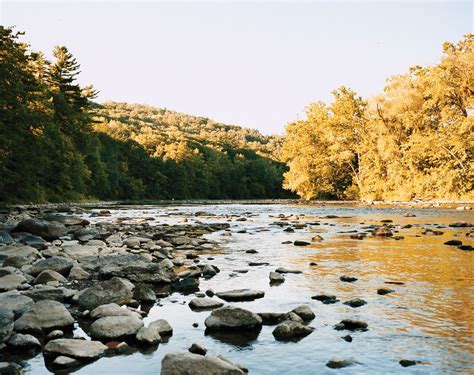
[[224, 357], [194, 353], [168, 353], [161, 361], [161, 375], [243, 375], [246, 372]]

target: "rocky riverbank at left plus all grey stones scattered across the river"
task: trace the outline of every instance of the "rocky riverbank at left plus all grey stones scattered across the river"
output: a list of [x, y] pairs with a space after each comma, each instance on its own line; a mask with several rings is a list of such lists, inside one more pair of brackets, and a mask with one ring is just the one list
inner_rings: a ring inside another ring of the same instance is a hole
[[[62, 212], [59, 212], [62, 211]], [[170, 293], [193, 294], [193, 311], [209, 311], [205, 332], [222, 337], [235, 332], [252, 340], [262, 326], [273, 325], [277, 341], [297, 342], [312, 334], [312, 309], [300, 305], [287, 312], [253, 311], [232, 306], [232, 302], [254, 301], [265, 297], [257, 289], [234, 289], [215, 293], [200, 291], [200, 280], [211, 279], [220, 269], [213, 257], [220, 244], [206, 238], [213, 232], [232, 235], [231, 222], [244, 223], [250, 213], [220, 216], [194, 212], [191, 217], [174, 217], [173, 224], [156, 222], [156, 217], [112, 215], [106, 209], [68, 207], [16, 208], [0, 216], [0, 371], [20, 373], [21, 360], [42, 351], [52, 372], [69, 372], [104, 356], [133, 351], [150, 352], [161, 342], [172, 339], [173, 327], [166, 317], [148, 321], [150, 309]], [[213, 218], [216, 218], [213, 222]], [[326, 216], [330, 220], [337, 217]], [[203, 219], [202, 221], [200, 219]], [[205, 219], [205, 220], [204, 220]], [[219, 220], [217, 220], [219, 219]], [[319, 222], [300, 220], [297, 216], [276, 216], [272, 226], [292, 233]], [[472, 228], [469, 222], [453, 222], [452, 228]], [[403, 240], [400, 226], [385, 220], [379, 225], [347, 234], [352, 240], [367, 236]], [[240, 230], [241, 233], [245, 231]], [[441, 229], [426, 229], [423, 235], [440, 235]], [[473, 236], [472, 232], [466, 235]], [[310, 240], [290, 242], [297, 247], [324, 241], [320, 235]], [[460, 250], [472, 250], [459, 239], [446, 242]], [[248, 251], [251, 255], [255, 251]], [[267, 263], [249, 262], [250, 267]], [[316, 264], [310, 264], [310, 267]], [[235, 274], [248, 270], [234, 270]], [[285, 282], [285, 276], [299, 274], [299, 269], [279, 267], [269, 274], [273, 286]], [[353, 283], [357, 278], [341, 275], [340, 282]], [[379, 295], [394, 290], [380, 288]], [[316, 295], [323, 304], [336, 303], [333, 295]], [[367, 302], [356, 298], [344, 302], [358, 308]], [[85, 334], [78, 335], [77, 328]], [[367, 331], [364, 321], [345, 319], [335, 330]], [[352, 341], [350, 335], [343, 337]], [[222, 356], [205, 356], [206, 348], [189, 342], [189, 352], [168, 353], [162, 361], [162, 374], [242, 374], [244, 366]], [[218, 353], [216, 353], [218, 354]], [[19, 361], [20, 360], [20, 361]], [[331, 360], [331, 368], [352, 363]], [[414, 363], [416, 364], [416, 362]]]

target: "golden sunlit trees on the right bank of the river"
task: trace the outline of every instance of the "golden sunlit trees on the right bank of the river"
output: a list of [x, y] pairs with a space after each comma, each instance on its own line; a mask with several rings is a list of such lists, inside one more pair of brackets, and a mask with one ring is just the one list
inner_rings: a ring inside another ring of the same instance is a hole
[[287, 125], [286, 188], [305, 199], [474, 199], [474, 35], [374, 98], [333, 94]]

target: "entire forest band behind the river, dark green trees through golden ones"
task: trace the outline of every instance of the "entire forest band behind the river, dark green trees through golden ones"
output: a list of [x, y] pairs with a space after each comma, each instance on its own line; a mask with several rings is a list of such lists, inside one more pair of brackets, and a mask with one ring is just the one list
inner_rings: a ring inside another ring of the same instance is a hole
[[97, 103], [66, 47], [54, 61], [0, 27], [0, 202], [474, 199], [474, 36], [364, 99], [340, 87], [283, 136], [166, 108]]

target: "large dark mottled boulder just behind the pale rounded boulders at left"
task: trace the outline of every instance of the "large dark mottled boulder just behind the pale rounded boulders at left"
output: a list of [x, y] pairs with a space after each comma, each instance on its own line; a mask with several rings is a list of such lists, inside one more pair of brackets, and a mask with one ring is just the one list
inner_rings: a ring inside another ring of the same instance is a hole
[[114, 277], [87, 288], [81, 293], [77, 302], [83, 309], [90, 310], [112, 302], [123, 305], [129, 302], [132, 297], [132, 289], [129, 283]]

